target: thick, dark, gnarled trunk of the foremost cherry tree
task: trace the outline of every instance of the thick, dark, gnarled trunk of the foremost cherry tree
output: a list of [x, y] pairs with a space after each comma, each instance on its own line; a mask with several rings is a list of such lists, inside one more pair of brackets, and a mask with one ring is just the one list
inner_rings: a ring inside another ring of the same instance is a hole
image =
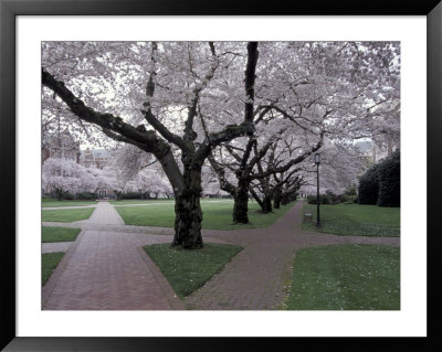
[[172, 246], [202, 248], [201, 168], [185, 167], [182, 192], [175, 196], [175, 236]]

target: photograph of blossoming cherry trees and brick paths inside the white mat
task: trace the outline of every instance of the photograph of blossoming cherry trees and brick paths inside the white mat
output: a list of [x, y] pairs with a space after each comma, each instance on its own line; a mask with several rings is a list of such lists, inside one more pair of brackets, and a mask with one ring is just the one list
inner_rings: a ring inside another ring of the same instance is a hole
[[400, 42], [41, 43], [42, 310], [400, 310]]

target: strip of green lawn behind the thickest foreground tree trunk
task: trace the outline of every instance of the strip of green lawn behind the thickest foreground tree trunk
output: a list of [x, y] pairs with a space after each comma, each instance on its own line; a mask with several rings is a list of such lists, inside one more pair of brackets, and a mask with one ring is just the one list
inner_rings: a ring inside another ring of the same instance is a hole
[[[292, 204], [282, 205], [269, 214], [260, 212], [256, 202], [249, 203], [250, 224], [233, 224], [232, 210], [233, 202], [202, 201], [203, 212], [202, 227], [211, 230], [240, 230], [240, 228], [261, 228], [273, 224], [278, 217], [284, 215]], [[175, 204], [157, 204], [151, 206], [116, 206], [116, 211], [127, 225], [173, 227]]]

